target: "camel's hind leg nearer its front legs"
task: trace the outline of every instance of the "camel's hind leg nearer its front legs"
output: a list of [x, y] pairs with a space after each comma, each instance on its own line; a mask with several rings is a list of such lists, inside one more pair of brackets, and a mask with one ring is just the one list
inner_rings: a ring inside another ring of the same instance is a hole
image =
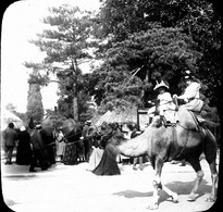
[[191, 164], [195, 172], [197, 173], [197, 178], [195, 180], [195, 186], [194, 186], [191, 192], [189, 194], [187, 201], [195, 201], [197, 199], [197, 197], [199, 196], [197, 194], [197, 190], [198, 190], [198, 187], [202, 180], [203, 172], [202, 172], [201, 166], [200, 166], [199, 158], [189, 159], [188, 162]]

